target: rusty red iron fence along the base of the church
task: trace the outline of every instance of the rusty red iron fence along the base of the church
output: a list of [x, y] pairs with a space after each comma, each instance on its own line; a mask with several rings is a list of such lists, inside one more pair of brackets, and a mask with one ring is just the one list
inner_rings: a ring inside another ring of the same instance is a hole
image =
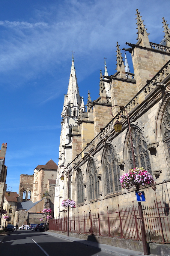
[[[160, 201], [142, 208], [147, 241], [170, 243], [169, 205]], [[67, 213], [66, 213], [67, 214]], [[142, 241], [138, 206], [79, 214], [69, 218], [70, 232]], [[67, 231], [67, 216], [49, 220], [49, 229]]]

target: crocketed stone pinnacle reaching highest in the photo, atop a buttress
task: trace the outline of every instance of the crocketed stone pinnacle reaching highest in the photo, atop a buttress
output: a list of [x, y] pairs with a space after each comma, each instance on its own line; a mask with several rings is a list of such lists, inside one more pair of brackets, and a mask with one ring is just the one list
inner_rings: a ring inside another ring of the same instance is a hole
[[136, 9], [136, 20], [137, 23], [136, 25], [138, 26], [136, 29], [138, 30], [138, 32], [136, 34], [138, 34], [138, 42], [137, 45], [141, 45], [147, 48], [151, 48], [151, 45], [149, 43], [149, 38], [148, 38], [148, 33], [146, 32], [147, 28], [145, 29], [145, 25], [143, 24], [143, 21], [141, 18], [142, 16], [140, 16], [140, 12], [138, 11], [138, 9]]

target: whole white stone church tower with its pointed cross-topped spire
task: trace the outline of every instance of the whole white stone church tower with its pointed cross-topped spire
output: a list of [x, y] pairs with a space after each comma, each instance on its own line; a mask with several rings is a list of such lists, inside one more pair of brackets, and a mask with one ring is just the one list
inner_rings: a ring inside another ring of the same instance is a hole
[[[73, 130], [78, 126], [79, 110], [84, 110], [83, 99], [79, 95], [79, 88], [74, 67], [74, 56], [72, 56], [72, 65], [68, 83], [67, 94], [64, 95], [64, 105], [61, 112], [61, 134], [59, 145], [58, 174], [55, 187], [55, 208], [54, 216], [58, 216], [62, 200], [67, 198], [67, 179], [61, 181], [60, 176], [64, 167], [67, 167], [73, 160]], [[61, 210], [62, 211], [62, 210]]]

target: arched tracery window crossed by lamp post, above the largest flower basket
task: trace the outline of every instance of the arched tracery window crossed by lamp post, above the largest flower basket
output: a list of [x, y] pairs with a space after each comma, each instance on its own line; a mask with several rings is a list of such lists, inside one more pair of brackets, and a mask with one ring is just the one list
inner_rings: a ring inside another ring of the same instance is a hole
[[[136, 167], [144, 167], [144, 169], [148, 170], [148, 172], [152, 174], [151, 163], [149, 159], [149, 151], [147, 149], [144, 136], [137, 129], [133, 129], [131, 134]], [[130, 162], [130, 168], [133, 168], [133, 158], [130, 139], [128, 143], [128, 161]]]

